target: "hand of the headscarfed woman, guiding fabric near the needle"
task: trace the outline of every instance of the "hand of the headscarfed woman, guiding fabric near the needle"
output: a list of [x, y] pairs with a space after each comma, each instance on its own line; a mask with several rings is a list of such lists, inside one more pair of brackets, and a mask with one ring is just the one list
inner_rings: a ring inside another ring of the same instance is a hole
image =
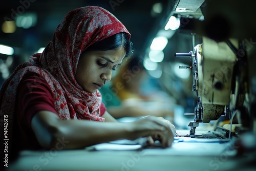
[[138, 121], [131, 122], [132, 135], [130, 139], [148, 137], [147, 144], [153, 145], [159, 140], [162, 147], [170, 147], [174, 141], [175, 127], [168, 120], [154, 116], [147, 116]]

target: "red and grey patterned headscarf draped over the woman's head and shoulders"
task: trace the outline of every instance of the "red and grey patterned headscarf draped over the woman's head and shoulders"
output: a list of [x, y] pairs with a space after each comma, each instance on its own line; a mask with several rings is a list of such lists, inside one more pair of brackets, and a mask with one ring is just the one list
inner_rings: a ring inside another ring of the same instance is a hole
[[79, 56], [84, 50], [120, 32], [131, 36], [113, 14], [101, 7], [87, 6], [69, 12], [44, 52], [32, 55], [29, 62], [19, 65], [4, 82], [0, 91], [1, 130], [4, 115], [8, 115], [9, 125], [13, 122], [18, 84], [29, 73], [46, 79], [61, 119], [104, 121], [99, 116], [101, 94], [98, 90], [95, 93], [83, 91], [75, 80], [75, 74]]

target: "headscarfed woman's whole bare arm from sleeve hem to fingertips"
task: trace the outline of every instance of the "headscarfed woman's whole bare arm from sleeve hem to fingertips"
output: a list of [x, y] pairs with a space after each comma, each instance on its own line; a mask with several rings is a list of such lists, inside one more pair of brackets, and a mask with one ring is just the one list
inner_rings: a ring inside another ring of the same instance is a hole
[[64, 149], [119, 139], [157, 138], [163, 147], [172, 144], [174, 134], [170, 125], [157, 117], [148, 116], [135, 122], [96, 122], [89, 120], [60, 120], [49, 111], [39, 111], [32, 118], [32, 129], [42, 147], [53, 148], [62, 143]]

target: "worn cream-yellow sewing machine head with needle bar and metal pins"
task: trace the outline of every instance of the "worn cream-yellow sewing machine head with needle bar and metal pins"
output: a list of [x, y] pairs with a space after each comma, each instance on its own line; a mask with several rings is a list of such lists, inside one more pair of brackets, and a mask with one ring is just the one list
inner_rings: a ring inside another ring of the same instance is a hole
[[[238, 47], [238, 41], [230, 40], [234, 47]], [[189, 53], [175, 53], [176, 57], [189, 57], [191, 67], [180, 66], [180, 69], [191, 69], [193, 72], [193, 91], [198, 96], [198, 104], [191, 121], [190, 137], [195, 137], [196, 127], [199, 122], [208, 123], [226, 115], [235, 106], [231, 101], [232, 81], [234, 79], [234, 65], [238, 60], [226, 42], [216, 42], [203, 37], [202, 44], [197, 45], [194, 51]], [[230, 106], [231, 104], [231, 106]]]

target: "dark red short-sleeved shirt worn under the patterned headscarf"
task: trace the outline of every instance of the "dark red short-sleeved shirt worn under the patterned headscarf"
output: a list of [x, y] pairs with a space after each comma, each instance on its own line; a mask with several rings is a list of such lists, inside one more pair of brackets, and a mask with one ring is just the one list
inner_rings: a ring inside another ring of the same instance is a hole
[[[54, 107], [54, 96], [44, 78], [35, 74], [28, 75], [20, 83], [17, 90], [17, 124], [14, 124], [14, 147], [16, 149], [40, 149], [31, 120], [38, 111], [50, 111], [57, 115]], [[104, 103], [100, 106], [100, 116], [105, 112]], [[17, 139], [16, 139], [17, 138]]]

